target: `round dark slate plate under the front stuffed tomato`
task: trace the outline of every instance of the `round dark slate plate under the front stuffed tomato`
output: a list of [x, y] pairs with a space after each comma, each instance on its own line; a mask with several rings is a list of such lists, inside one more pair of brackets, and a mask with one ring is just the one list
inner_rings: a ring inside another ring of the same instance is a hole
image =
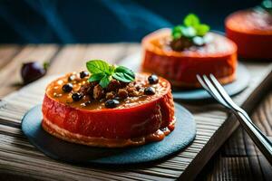
[[168, 157], [186, 148], [196, 136], [193, 116], [175, 104], [176, 128], [159, 142], [134, 148], [92, 148], [55, 138], [41, 126], [41, 105], [29, 110], [22, 119], [22, 129], [29, 141], [44, 155], [69, 163], [136, 164]]

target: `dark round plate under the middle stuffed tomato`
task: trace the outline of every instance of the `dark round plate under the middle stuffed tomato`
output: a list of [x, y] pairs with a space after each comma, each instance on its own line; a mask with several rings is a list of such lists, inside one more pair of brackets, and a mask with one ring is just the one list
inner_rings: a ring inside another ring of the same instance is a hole
[[[237, 79], [224, 85], [229, 96], [234, 96], [248, 87], [250, 75], [248, 69], [241, 63], [238, 63]], [[195, 90], [172, 90], [174, 100], [209, 100], [212, 99], [209, 93], [203, 89]]]

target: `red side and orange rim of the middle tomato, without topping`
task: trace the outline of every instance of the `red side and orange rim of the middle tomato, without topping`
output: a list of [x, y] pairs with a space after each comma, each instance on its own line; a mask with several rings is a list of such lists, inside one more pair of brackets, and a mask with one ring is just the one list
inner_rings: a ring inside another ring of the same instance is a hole
[[[161, 35], [160, 35], [161, 34]], [[190, 52], [189, 54], [175, 51], [164, 51], [159, 47], [151, 47], [151, 42], [167, 36], [167, 30], [147, 35], [142, 40], [144, 51], [141, 64], [142, 71], [155, 72], [168, 79], [174, 87], [200, 87], [197, 74], [212, 73], [223, 84], [234, 81], [237, 69], [237, 46], [227, 40], [230, 50], [213, 52], [213, 54]], [[224, 44], [220, 44], [224, 46]]]

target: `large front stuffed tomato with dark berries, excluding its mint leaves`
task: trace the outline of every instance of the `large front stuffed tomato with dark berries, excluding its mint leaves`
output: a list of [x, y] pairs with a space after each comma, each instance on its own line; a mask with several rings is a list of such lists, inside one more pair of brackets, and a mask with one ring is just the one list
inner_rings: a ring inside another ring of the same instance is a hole
[[110, 78], [105, 86], [94, 78], [69, 73], [48, 85], [47, 132], [83, 145], [120, 148], [161, 140], [174, 129], [169, 81], [141, 73], [130, 82]]

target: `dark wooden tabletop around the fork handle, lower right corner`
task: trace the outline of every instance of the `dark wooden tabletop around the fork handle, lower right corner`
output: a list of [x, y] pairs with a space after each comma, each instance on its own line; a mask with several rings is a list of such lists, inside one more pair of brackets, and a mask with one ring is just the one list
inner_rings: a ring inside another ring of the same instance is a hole
[[[272, 90], [251, 118], [272, 138]], [[199, 180], [271, 180], [272, 167], [244, 129], [238, 128], [198, 176]]]

